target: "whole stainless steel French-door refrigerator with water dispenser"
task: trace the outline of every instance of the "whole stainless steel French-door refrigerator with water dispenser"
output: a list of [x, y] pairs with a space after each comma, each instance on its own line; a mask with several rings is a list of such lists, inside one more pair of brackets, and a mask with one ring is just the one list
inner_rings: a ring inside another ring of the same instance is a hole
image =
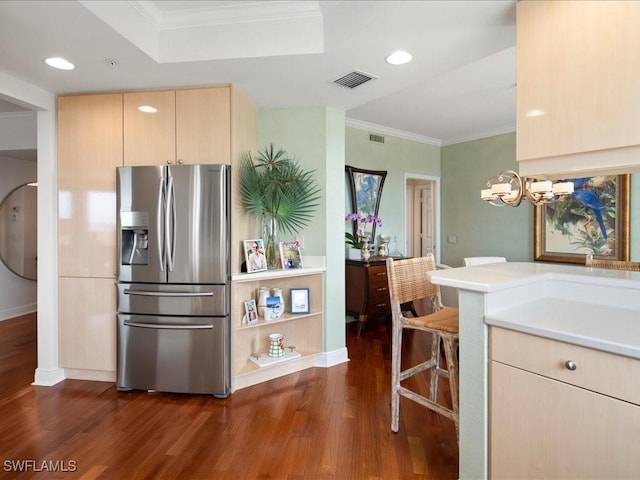
[[119, 390], [230, 392], [230, 168], [119, 167]]

